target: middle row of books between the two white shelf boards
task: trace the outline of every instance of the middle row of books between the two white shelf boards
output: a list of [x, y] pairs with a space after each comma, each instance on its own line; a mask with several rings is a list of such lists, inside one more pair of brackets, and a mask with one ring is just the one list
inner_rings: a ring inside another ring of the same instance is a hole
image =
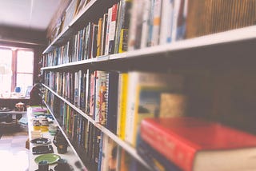
[[186, 113], [185, 78], [178, 74], [80, 70], [46, 75], [52, 80], [46, 85], [134, 147], [143, 118]]

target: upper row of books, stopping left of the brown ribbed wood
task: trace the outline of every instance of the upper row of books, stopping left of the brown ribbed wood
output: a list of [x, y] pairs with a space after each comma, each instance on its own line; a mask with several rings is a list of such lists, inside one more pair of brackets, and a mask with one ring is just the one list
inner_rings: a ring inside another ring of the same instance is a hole
[[[185, 36], [186, 1], [174, 3], [162, 0], [121, 0], [111, 6], [108, 12], [98, 19], [98, 23], [89, 22], [86, 27], [74, 34], [66, 45], [45, 54], [43, 66], [56, 66], [107, 54], [118, 54], [182, 39]], [[179, 17], [183, 18], [182, 26], [173, 24], [174, 20], [178, 20], [176, 13], [179, 10], [184, 11]]]

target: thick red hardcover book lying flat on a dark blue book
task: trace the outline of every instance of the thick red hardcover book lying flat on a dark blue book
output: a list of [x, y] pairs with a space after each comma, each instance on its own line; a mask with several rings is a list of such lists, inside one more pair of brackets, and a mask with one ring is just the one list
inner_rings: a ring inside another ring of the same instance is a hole
[[256, 170], [256, 136], [193, 117], [146, 118], [144, 141], [185, 171]]

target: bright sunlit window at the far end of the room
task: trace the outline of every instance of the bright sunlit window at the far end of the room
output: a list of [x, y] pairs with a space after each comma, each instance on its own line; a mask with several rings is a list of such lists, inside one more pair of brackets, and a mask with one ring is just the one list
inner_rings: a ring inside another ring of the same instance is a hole
[[21, 88], [21, 93], [33, 85], [34, 52], [32, 50], [17, 50], [0, 48], [0, 93], [10, 96], [15, 87]]

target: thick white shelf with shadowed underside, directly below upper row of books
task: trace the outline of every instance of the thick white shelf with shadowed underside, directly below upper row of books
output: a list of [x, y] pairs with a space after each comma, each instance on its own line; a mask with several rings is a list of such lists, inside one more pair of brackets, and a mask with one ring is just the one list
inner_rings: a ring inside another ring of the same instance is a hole
[[67, 67], [77, 68], [77, 66], [103, 70], [104, 66], [107, 67], [107, 70], [143, 70], [143, 66], [145, 66], [145, 70], [149, 68], [152, 70], [152, 67], [161, 70], [182, 66], [198, 66], [198, 62], [200, 65], [205, 64], [207, 67], [215, 67], [216, 65], [226, 67], [231, 66], [230, 64], [235, 67], [250, 66], [256, 53], [255, 40], [256, 26], [248, 26], [122, 54], [111, 54], [58, 66], [44, 67], [42, 70], [62, 70]]

